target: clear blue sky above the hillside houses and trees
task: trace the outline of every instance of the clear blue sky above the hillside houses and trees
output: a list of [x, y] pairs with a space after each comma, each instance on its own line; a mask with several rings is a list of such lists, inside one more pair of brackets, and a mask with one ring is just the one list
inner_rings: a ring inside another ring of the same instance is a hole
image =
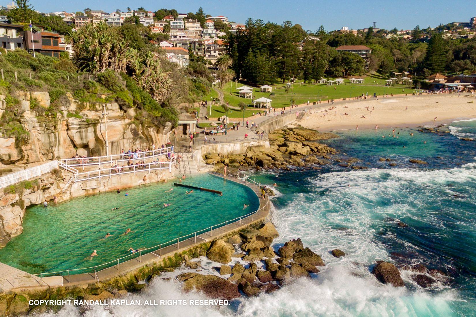
[[[328, 31], [347, 26], [362, 29], [377, 21], [377, 28], [413, 29], [435, 27], [440, 23], [467, 22], [476, 16], [473, 0], [30, 0], [42, 12], [82, 11], [85, 8], [112, 12], [127, 7], [156, 11], [176, 9], [180, 13], [196, 12], [202, 7], [206, 14], [223, 15], [235, 22], [248, 18], [262, 19], [278, 24], [284, 20], [299, 23], [303, 29], [316, 30], [321, 24]], [[6, 5], [4, 2], [3, 5]]]

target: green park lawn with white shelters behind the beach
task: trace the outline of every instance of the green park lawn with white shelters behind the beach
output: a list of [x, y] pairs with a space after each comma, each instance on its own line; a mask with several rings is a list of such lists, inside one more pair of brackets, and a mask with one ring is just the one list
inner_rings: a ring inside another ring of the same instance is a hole
[[[284, 84], [276, 84], [270, 85], [273, 87], [272, 94], [270, 93], [262, 93], [257, 86], [251, 86], [247, 84], [237, 84], [235, 82], [228, 82], [225, 84], [221, 91], [223, 92], [223, 99], [225, 102], [229, 102], [229, 106], [238, 106], [240, 101], [243, 101], [248, 104], [248, 110], [245, 111], [245, 118], [252, 115], [253, 112], [259, 111], [258, 108], [253, 110], [253, 106], [251, 101], [258, 99], [260, 97], [266, 97], [268, 99], [273, 100], [271, 105], [275, 108], [282, 108], [285, 106], [290, 105], [291, 98], [296, 102], [297, 105], [304, 104], [308, 100], [312, 104], [313, 101], [317, 101], [319, 98], [320, 100], [328, 100], [328, 99], [342, 99], [342, 98], [349, 98], [359, 96], [361, 94], [368, 94], [368, 96], [373, 96], [374, 93], [377, 96], [382, 96], [384, 94], [411, 94], [415, 92], [414, 89], [410, 88], [407, 85], [395, 85], [395, 86], [385, 86], [385, 79], [381, 78], [379, 84], [379, 78], [375, 77], [366, 77], [364, 78], [365, 82], [363, 84], [350, 84], [349, 80], [346, 79], [345, 82], [341, 85], [337, 86], [328, 86], [325, 84], [302, 84], [302, 83], [295, 83], [291, 88], [286, 89]], [[249, 86], [253, 88], [253, 98], [240, 98], [238, 96], [238, 91], [236, 87], [240, 86]], [[231, 90], [230, 90], [231, 88]], [[231, 93], [230, 93], [231, 91]], [[208, 100], [210, 102], [210, 98], [218, 98], [218, 93], [215, 90], [211, 90], [211, 92], [203, 97], [203, 100]], [[209, 108], [207, 108], [207, 114], [209, 114]], [[224, 111], [221, 106], [212, 106], [211, 117], [218, 117], [224, 115]], [[234, 109], [230, 109], [228, 112], [228, 116], [230, 118], [239, 118], [242, 117], [242, 112]]]

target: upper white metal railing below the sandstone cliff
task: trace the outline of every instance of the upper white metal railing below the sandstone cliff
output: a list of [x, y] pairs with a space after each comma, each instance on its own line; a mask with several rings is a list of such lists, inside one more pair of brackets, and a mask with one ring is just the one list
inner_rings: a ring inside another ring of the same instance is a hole
[[105, 156], [92, 156], [92, 157], [79, 157], [79, 158], [69, 158], [61, 159], [60, 163], [64, 167], [84, 167], [101, 164], [114, 164], [114, 163], [124, 163], [128, 162], [129, 159], [132, 163], [136, 161], [144, 161], [147, 159], [155, 160], [157, 157], [168, 155], [169, 153], [174, 152], [174, 147], [164, 147], [151, 151], [137, 152], [137, 153], [124, 153], [124, 154], [114, 154], [114, 155], [105, 155]]

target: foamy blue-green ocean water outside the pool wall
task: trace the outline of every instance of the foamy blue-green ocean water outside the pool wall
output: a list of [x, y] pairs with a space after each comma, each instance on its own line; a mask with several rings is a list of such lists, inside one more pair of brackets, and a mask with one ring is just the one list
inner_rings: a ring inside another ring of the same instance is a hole
[[[476, 316], [476, 145], [460, 139], [476, 137], [475, 123], [444, 127], [451, 133], [400, 128], [395, 138], [392, 129], [341, 131], [327, 143], [343, 159], [360, 159], [355, 164], [367, 169], [332, 163], [321, 170], [252, 175], [277, 183], [275, 250], [301, 238], [326, 262], [311, 279], [294, 280], [272, 294], [238, 298], [227, 307], [91, 307], [84, 316]], [[410, 158], [428, 164], [409, 163]], [[336, 248], [346, 256], [334, 258], [330, 250]], [[371, 274], [376, 260], [398, 267], [422, 263], [449, 279], [421, 288], [412, 272], [400, 269], [406, 287], [394, 288]], [[128, 298], [204, 295], [183, 294], [176, 281], [156, 279]], [[77, 308], [64, 307], [48, 316], [78, 314]]]

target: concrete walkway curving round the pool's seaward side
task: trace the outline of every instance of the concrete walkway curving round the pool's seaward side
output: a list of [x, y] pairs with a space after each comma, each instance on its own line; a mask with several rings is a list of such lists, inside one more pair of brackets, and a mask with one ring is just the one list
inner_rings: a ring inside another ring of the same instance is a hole
[[[240, 218], [238, 221], [227, 223], [224, 226], [216, 229], [195, 235], [189, 239], [179, 241], [167, 247], [159, 248], [148, 251], [146, 254], [137, 252], [136, 257], [124, 261], [122, 263], [112, 265], [106, 269], [90, 270], [88, 273], [82, 274], [66, 274], [60, 276], [41, 277], [38, 275], [31, 275], [20, 269], [15, 269], [6, 264], [0, 263], [0, 288], [3, 292], [18, 291], [25, 288], [54, 288], [60, 286], [75, 286], [75, 285], [87, 285], [89, 283], [95, 283], [104, 281], [117, 276], [123, 276], [127, 273], [139, 269], [152, 262], [160, 261], [161, 259], [173, 256], [177, 252], [183, 252], [198, 246], [201, 243], [209, 242], [214, 239], [220, 238], [233, 231], [241, 230], [248, 227], [250, 224], [262, 221], [266, 219], [271, 210], [271, 203], [266, 198], [261, 198], [261, 192], [259, 186], [243, 181], [237, 178], [224, 176], [218, 173], [210, 173], [215, 176], [224, 178], [225, 180], [241, 183], [248, 186], [256, 193], [259, 199], [259, 209], [256, 213], [253, 213], [247, 217]], [[111, 263], [112, 264], [112, 263]], [[0, 290], [0, 293], [1, 293]]]

